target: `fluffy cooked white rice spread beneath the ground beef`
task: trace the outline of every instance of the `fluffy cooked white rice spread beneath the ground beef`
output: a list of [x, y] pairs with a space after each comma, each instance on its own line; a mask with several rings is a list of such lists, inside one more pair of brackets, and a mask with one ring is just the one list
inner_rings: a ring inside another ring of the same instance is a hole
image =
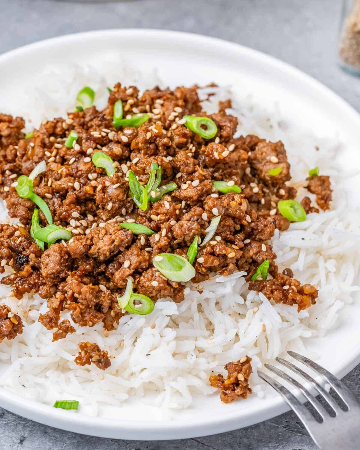
[[[7, 109], [4, 112], [27, 118], [31, 130], [45, 118], [64, 117], [67, 110], [73, 110], [73, 99], [84, 85], [96, 90], [96, 104], [103, 106], [106, 86], [116, 81], [117, 75], [110, 73], [105, 80], [92, 68], [45, 70], [21, 110], [1, 106]], [[155, 74], [142, 78], [133, 71], [122, 74], [120, 81], [143, 88], [159, 83]], [[202, 99], [209, 89], [199, 90]], [[211, 91], [216, 95], [203, 102], [208, 112], [217, 109], [220, 98], [229, 98], [228, 88]], [[317, 165], [336, 180], [331, 211], [309, 214], [305, 222], [293, 223], [286, 232], [276, 230], [273, 239], [280, 269], [290, 267], [302, 283], [318, 286], [316, 305], [300, 313], [297, 306], [273, 305], [264, 295], [249, 291], [244, 272], [240, 272], [202, 283], [201, 294], [189, 285], [184, 302], [160, 300], [151, 315], [126, 315], [107, 338], [102, 324], [93, 328], [75, 325], [76, 333], [51, 342], [52, 332], [37, 321], [39, 312], [47, 311], [46, 302], [27, 294], [18, 301], [10, 296], [9, 288], [0, 285], [1, 301], [25, 323], [23, 334], [0, 343], [0, 361], [5, 363], [0, 386], [47, 405], [55, 399], [76, 399], [80, 412], [88, 415], [97, 415], [102, 403], [118, 406], [129, 397], [145, 398], [150, 392], [147, 398], [163, 410], [186, 408], [194, 393], [216, 391], [208, 383], [212, 370], [221, 372], [226, 362], [249, 355], [253, 366], [250, 385], [261, 397], [264, 385], [257, 369], [265, 361], [289, 349], [303, 352], [306, 339], [323, 336], [333, 326], [338, 311], [360, 290], [356, 284], [360, 253], [354, 247], [354, 240], [360, 239], [360, 214], [352, 211], [339, 193], [341, 179], [330, 166], [340, 146], [333, 144], [334, 139], [304, 133], [279, 117], [276, 108], [264, 111], [250, 98], [234, 99], [233, 108], [230, 112], [239, 118], [238, 134], [254, 133], [284, 142], [297, 187]], [[309, 195], [300, 188], [299, 198], [304, 194]], [[9, 222], [4, 203], [0, 207], [0, 220]], [[254, 313], [255, 307], [258, 311]], [[63, 318], [70, 319], [69, 313], [64, 312]], [[109, 369], [104, 372], [94, 365], [74, 363], [77, 344], [84, 340], [96, 342], [114, 357]]]

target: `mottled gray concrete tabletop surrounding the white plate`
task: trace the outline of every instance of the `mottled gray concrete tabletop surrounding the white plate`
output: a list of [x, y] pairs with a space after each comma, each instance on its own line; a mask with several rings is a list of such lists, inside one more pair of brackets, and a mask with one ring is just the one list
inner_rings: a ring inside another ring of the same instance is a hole
[[[342, 72], [336, 64], [340, 9], [340, 0], [0, 0], [0, 53], [78, 31], [130, 27], [190, 31], [283, 59], [360, 110], [360, 79]], [[360, 366], [345, 381], [360, 398]], [[292, 412], [217, 436], [141, 442], [64, 432], [0, 408], [0, 436], [1, 450], [316, 449]]]

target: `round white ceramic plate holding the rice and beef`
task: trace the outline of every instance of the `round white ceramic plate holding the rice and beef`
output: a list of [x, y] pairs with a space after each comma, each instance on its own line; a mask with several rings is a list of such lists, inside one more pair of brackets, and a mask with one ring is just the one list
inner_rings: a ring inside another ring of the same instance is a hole
[[[12, 92], [25, 80], [35, 80], [46, 63], [89, 62], [103, 72], [104, 58], [116, 52], [140, 70], [157, 67], [171, 87], [215, 81], [233, 85], [234, 93], [252, 93], [265, 107], [277, 102], [284, 117], [300, 121], [320, 136], [338, 133], [345, 144], [344, 161], [360, 166], [360, 116], [340, 97], [310, 76], [255, 50], [204, 36], [173, 31], [110, 30], [63, 36], [27, 45], [0, 56], [0, 100], [11, 102]], [[21, 115], [21, 111], [18, 111]], [[353, 180], [358, 192], [359, 180]], [[356, 196], [354, 196], [356, 198]], [[356, 200], [359, 202], [359, 199]], [[311, 350], [320, 364], [339, 377], [360, 362], [360, 302], [346, 306], [334, 329], [313, 339]], [[349, 345], [351, 343], [351, 345]], [[219, 397], [198, 396], [193, 405], [162, 421], [156, 408], [135, 400], [121, 408], [107, 407], [99, 418], [69, 413], [33, 403], [0, 389], [0, 405], [16, 414], [56, 428], [94, 436], [124, 439], [177, 439], [234, 430], [274, 417], [288, 409], [273, 392], [266, 399], [224, 405]], [[146, 420], [151, 419], [151, 421]]]

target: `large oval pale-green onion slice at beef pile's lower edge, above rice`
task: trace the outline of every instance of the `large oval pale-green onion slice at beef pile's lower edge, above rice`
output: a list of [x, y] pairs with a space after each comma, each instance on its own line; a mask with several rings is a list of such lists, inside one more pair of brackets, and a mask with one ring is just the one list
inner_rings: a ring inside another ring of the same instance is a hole
[[189, 281], [195, 276], [195, 269], [189, 261], [174, 253], [156, 255], [153, 266], [170, 281]]

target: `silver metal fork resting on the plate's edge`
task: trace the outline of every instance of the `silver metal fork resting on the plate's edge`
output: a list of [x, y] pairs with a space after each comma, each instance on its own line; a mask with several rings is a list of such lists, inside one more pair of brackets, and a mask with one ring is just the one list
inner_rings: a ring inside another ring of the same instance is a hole
[[325, 389], [317, 383], [309, 374], [299, 369], [296, 365], [282, 358], [276, 358], [280, 364], [292, 370], [301, 378], [310, 382], [312, 387], [316, 389], [323, 400], [331, 407], [332, 415], [328, 410], [313, 396], [305, 387], [303, 387], [297, 380], [277, 369], [273, 365], [265, 364], [266, 369], [271, 370], [274, 374], [286, 380], [293, 387], [297, 387], [306, 399], [311, 403], [315, 410], [320, 415], [321, 419], [315, 418], [311, 412], [297, 399], [286, 387], [278, 383], [273, 378], [258, 371], [259, 377], [270, 384], [280, 395], [282, 395], [290, 408], [297, 414], [297, 417], [302, 421], [304, 427], [309, 432], [315, 444], [322, 450], [359, 450], [360, 449], [360, 403], [352, 392], [333, 374], [330, 374], [326, 369], [309, 360], [306, 356], [299, 355], [293, 351], [288, 351], [288, 354], [311, 368], [317, 375], [320, 375], [323, 381], [330, 384], [333, 390], [338, 394], [341, 400], [347, 406], [347, 410], [341, 408], [335, 399], [325, 391]]

